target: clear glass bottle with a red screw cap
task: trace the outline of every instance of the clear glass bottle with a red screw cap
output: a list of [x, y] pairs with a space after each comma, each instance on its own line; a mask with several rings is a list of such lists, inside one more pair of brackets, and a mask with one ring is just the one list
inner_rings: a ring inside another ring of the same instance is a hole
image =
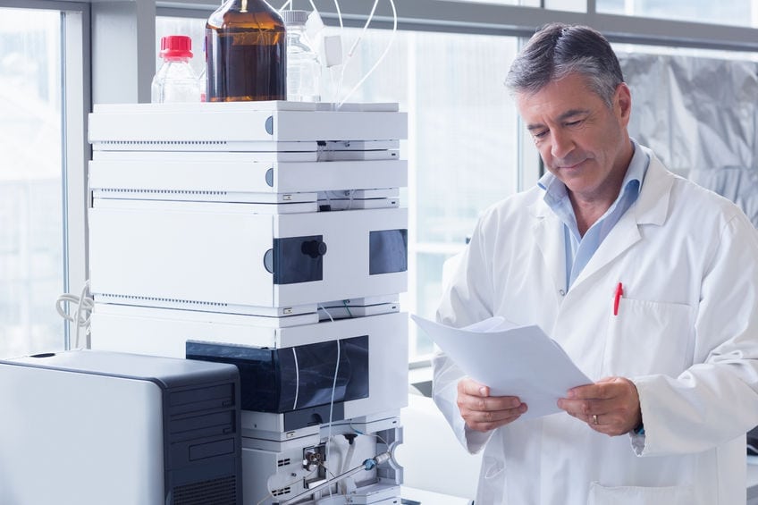
[[150, 101], [154, 104], [199, 102], [198, 76], [189, 65], [192, 39], [186, 35], [161, 38], [160, 56], [164, 63], [153, 78]]

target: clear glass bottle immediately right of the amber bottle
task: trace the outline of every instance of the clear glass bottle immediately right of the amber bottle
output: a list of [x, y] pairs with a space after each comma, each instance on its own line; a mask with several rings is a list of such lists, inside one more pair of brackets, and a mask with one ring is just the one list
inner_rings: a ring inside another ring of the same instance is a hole
[[307, 38], [307, 11], [282, 11], [287, 28], [287, 99], [321, 100], [321, 61]]

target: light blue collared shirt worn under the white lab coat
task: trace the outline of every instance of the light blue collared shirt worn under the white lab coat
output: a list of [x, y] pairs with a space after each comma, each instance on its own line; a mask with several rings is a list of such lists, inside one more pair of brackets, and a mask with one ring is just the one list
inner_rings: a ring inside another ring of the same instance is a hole
[[619, 197], [605, 211], [605, 214], [586, 231], [584, 237], [579, 235], [577, 216], [574, 214], [574, 207], [571, 206], [569, 194], [563, 182], [552, 173], [545, 173], [537, 183], [540, 188], [545, 190], [544, 202], [563, 223], [567, 291], [574, 281], [577, 280], [577, 277], [581, 274], [590, 258], [593, 257], [597, 248], [600, 247], [602, 240], [605, 240], [611, 229], [616, 223], [619, 223], [621, 216], [627, 212], [629, 207], [639, 197], [639, 191], [644, 181], [644, 174], [647, 172], [647, 165], [650, 164], [650, 158], [639, 148], [634, 139], [632, 139], [632, 147], [635, 154], [632, 156], [632, 161], [629, 163], [624, 181], [621, 183]]

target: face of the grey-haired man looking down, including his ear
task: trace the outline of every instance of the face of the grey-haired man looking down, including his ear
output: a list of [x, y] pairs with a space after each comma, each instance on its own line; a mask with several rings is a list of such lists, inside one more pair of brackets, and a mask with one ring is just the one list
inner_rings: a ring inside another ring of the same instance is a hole
[[616, 88], [612, 108], [576, 73], [521, 93], [516, 102], [545, 167], [573, 197], [616, 198], [631, 159], [625, 84]]

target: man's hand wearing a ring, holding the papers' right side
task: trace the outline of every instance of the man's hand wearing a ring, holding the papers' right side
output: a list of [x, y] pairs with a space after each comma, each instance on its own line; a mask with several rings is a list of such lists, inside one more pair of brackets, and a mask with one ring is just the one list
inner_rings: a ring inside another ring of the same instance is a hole
[[636, 385], [624, 377], [570, 389], [558, 408], [609, 436], [629, 433], [642, 422]]

